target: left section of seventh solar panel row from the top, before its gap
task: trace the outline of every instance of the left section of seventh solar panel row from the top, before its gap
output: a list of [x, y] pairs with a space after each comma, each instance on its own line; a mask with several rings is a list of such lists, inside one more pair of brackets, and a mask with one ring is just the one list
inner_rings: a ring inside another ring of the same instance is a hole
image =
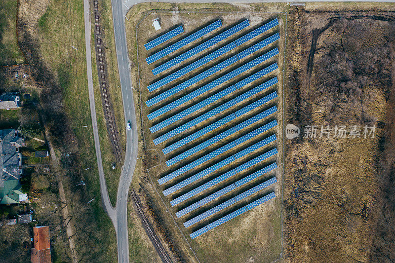
[[199, 102], [199, 103], [197, 103], [197, 104], [185, 109], [184, 111], [182, 111], [180, 113], [177, 113], [177, 114], [174, 114], [173, 116], [171, 116], [171, 117], [159, 122], [158, 124], [152, 126], [150, 128], [150, 131], [152, 133], [154, 133], [154, 132], [156, 132], [156, 131], [158, 131], [160, 129], [163, 129], [164, 127], [166, 127], [166, 126], [168, 126], [168, 125], [170, 125], [170, 124], [172, 124], [172, 123], [174, 123], [174, 122], [176, 122], [176, 121], [178, 121], [178, 120], [180, 120], [180, 119], [182, 119], [182, 118], [184, 118], [184, 117], [186, 117], [186, 116], [188, 116], [190, 114], [194, 114], [194, 113], [196, 114], [198, 110], [204, 108], [207, 105], [210, 105], [211, 103], [213, 103], [213, 102], [215, 102], [217, 100], [222, 99], [223, 97], [225, 97], [226, 95], [234, 92], [235, 90], [236, 90], [236, 87], [234, 85], [232, 85], [232, 86], [230, 86], [230, 87], [218, 92], [217, 94], [214, 94], [213, 96], [211, 96], [211, 97], [209, 97], [209, 98], [207, 98], [207, 99], [205, 99], [205, 100], [203, 100], [203, 101], [201, 101], [201, 102]]

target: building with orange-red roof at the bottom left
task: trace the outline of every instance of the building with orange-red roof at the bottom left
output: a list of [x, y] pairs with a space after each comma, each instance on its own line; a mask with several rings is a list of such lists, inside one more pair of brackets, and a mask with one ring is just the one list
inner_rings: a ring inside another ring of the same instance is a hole
[[31, 256], [32, 263], [51, 262], [49, 226], [33, 227], [33, 247], [31, 250]]

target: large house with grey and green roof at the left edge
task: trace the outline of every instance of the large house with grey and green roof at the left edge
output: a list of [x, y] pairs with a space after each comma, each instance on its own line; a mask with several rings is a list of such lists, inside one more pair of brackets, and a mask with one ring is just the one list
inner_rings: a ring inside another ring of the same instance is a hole
[[21, 191], [22, 154], [25, 139], [15, 129], [0, 130], [0, 204], [16, 204], [27, 200]]

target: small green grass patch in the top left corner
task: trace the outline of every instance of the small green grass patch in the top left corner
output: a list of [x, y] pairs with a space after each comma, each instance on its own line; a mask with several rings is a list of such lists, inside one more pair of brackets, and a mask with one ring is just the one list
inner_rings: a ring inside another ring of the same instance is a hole
[[16, 41], [16, 6], [17, 0], [0, 2], [0, 66], [24, 62]]

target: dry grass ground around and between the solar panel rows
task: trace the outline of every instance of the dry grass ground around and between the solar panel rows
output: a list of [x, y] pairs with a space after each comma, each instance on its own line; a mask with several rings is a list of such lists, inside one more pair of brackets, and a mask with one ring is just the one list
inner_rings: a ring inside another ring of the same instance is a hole
[[[258, 13], [248, 13], [248, 12], [233, 13], [233, 14], [215, 13], [216, 11], [219, 11], [219, 7], [221, 8], [220, 10], [223, 12], [252, 10]], [[171, 13], [165, 13], [160, 11], [156, 13], [150, 13], [148, 10], [177, 10], [180, 11], [180, 13], [171, 14]], [[136, 35], [135, 35], [136, 31], [134, 25], [136, 25], [138, 21], [140, 21], [140, 19], [144, 17], [143, 22], [139, 25], [139, 28], [137, 30], [138, 39], [139, 39], [138, 52], [139, 52], [139, 68], [140, 68], [140, 79], [141, 79], [141, 86], [139, 88], [141, 92], [141, 97], [136, 97], [136, 101], [139, 102], [138, 106], [140, 106], [141, 104], [141, 108], [143, 109], [143, 120], [144, 120], [143, 131], [146, 139], [145, 140], [146, 151], [144, 151], [145, 153], [144, 168], [150, 168], [154, 165], [158, 165], [160, 164], [160, 160], [163, 161], [164, 159], [164, 156], [161, 152], [162, 148], [155, 147], [154, 144], [152, 143], [153, 136], [151, 135], [151, 132], [148, 130], [148, 128], [151, 126], [151, 123], [146, 118], [146, 115], [149, 111], [144, 103], [147, 100], [147, 98], [153, 97], [152, 94], [148, 94], [147, 85], [152, 83], [155, 79], [151, 73], [151, 69], [153, 67], [151, 65], [147, 67], [147, 63], [144, 60], [144, 58], [147, 57], [146, 54], [147, 51], [145, 51], [143, 47], [143, 44], [147, 42], [147, 39], [145, 39], [147, 38], [146, 35], [155, 34], [152, 32], [153, 28], [151, 26], [151, 20], [158, 17], [162, 28], [165, 29], [170, 28], [171, 26], [174, 26], [176, 24], [177, 25], [183, 24], [184, 30], [186, 32], [189, 32], [190, 30], [195, 29], [197, 25], [204, 24], [205, 21], [210, 21], [210, 20], [212, 21], [218, 18], [221, 18], [221, 20], [223, 21], [226, 27], [230, 25], [234, 25], [237, 23], [237, 21], [240, 21], [241, 19], [245, 19], [245, 18], [248, 18], [252, 25], [259, 24], [269, 20], [270, 17], [275, 16], [275, 14], [268, 14], [268, 13], [264, 14], [264, 12], [280, 13], [280, 12], [285, 12], [285, 10], [286, 8], [285, 5], [283, 4], [267, 4], [267, 5], [256, 4], [251, 7], [244, 5], [238, 6], [238, 5], [224, 5], [224, 4], [221, 4], [221, 6], [219, 6], [218, 4], [172, 4], [171, 5], [168, 3], [158, 3], [158, 4], [143, 3], [135, 6], [131, 11], [129, 11], [128, 13], [129, 22], [126, 21], [126, 34], [127, 34], [128, 48], [129, 48], [129, 57], [130, 60], [134, 62], [134, 66], [132, 68], [132, 82], [135, 87], [139, 87], [138, 86], [139, 83], [137, 82], [138, 76], [136, 71], [138, 65], [136, 60], [137, 48], [136, 48]], [[143, 11], [145, 11], [144, 14], [142, 13]], [[194, 11], [197, 12], [195, 13]], [[213, 14], [211, 12], [213, 12]], [[282, 36], [284, 35], [284, 31], [285, 31], [285, 27], [284, 27], [285, 15], [283, 14], [284, 13], [277, 14], [278, 15], [277, 17], [281, 20], [282, 23], [280, 27], [281, 28], [280, 35]], [[197, 23], [196, 21], [199, 22]], [[270, 35], [270, 33], [268, 33], [268, 35]], [[185, 33], [180, 36], [177, 36], [176, 38], [170, 40], [169, 43], [166, 43], [165, 46], [179, 39], [182, 39], [185, 36], [186, 36]], [[280, 40], [280, 42], [275, 45], [279, 47], [281, 55], [278, 56], [276, 59], [268, 61], [267, 63], [265, 63], [265, 65], [270, 65], [271, 63], [276, 61], [279, 64], [279, 68], [282, 69], [283, 66], [282, 52], [283, 52], [284, 39], [283, 38], [281, 39], [282, 40]], [[272, 48], [274, 48], [274, 46], [265, 48], [265, 52], [271, 50]], [[184, 50], [181, 49], [178, 50], [176, 53], [181, 54], [183, 51]], [[153, 52], [151, 52], [150, 50], [150, 53]], [[205, 54], [207, 54], [207, 52]], [[174, 54], [170, 55], [170, 57], [174, 57], [174, 56], [175, 56]], [[215, 65], [217, 63], [218, 61], [210, 62], [209, 64], [205, 65], [204, 68], [207, 69], [210, 66]], [[154, 66], [156, 66], [155, 63]], [[181, 67], [178, 67], [178, 69]], [[246, 73], [243, 76], [247, 76], [249, 74], [251, 73]], [[279, 78], [280, 83], [282, 83], [281, 82], [282, 73], [281, 74], [277, 73], [276, 75]], [[237, 77], [237, 79], [242, 79], [244, 78], [243, 76]], [[159, 77], [159, 79], [160, 78], [161, 77]], [[181, 77], [180, 79], [177, 80], [177, 82], [181, 83], [182, 79], [188, 79], [188, 78], [189, 78], [188, 76]], [[217, 78], [217, 76], [209, 77], [204, 82], [208, 83], [209, 81], [215, 78]], [[265, 79], [266, 78], [269, 79], [270, 77], [266, 76]], [[280, 83], [278, 86], [276, 85], [276, 87], [272, 87], [273, 89], [271, 89], [271, 91], [276, 90], [277, 93], [279, 93], [281, 96]], [[162, 90], [165, 89], [162, 88]], [[186, 93], [188, 91], [186, 91]], [[156, 93], [156, 92], [152, 92], [152, 93]], [[140, 95], [140, 94], [137, 93], [135, 95]], [[165, 105], [166, 103], [167, 102], [164, 101], [161, 103], [161, 105]], [[279, 108], [279, 114], [282, 113], [281, 107], [279, 105], [279, 101], [276, 102], [276, 105], [277, 108]], [[265, 108], [266, 107], [267, 106], [265, 106]], [[138, 110], [138, 114], [139, 114], [140, 108], [136, 110]], [[141, 125], [140, 118], [138, 118], [138, 124]], [[171, 130], [171, 128], [176, 127], [177, 125], [179, 124], [175, 123], [173, 125], [170, 125], [169, 130]], [[198, 128], [194, 127], [194, 130], [197, 129]], [[163, 132], [161, 132], [161, 134], [162, 133]], [[182, 138], [182, 136], [183, 135], [175, 137], [176, 139], [174, 139], [173, 141], [177, 141], [177, 138]], [[280, 132], [277, 132], [277, 137], [278, 138], [281, 137]], [[142, 138], [139, 137], [139, 140], [142, 140]], [[142, 148], [143, 142], [140, 145]], [[167, 146], [168, 143], [165, 145]], [[279, 145], [279, 142], [278, 145], [276, 144], [276, 146], [279, 150], [281, 150], [281, 146]], [[182, 152], [182, 151], [183, 151], [182, 149], [178, 149], [178, 152]], [[201, 153], [199, 156], [201, 155], [203, 155], [203, 153]], [[189, 159], [186, 159], [186, 161], [188, 161]], [[277, 160], [279, 162], [280, 157]], [[178, 164], [177, 166], [180, 166], [180, 164]], [[262, 261], [271, 262], [278, 259], [281, 252], [280, 184], [276, 186], [277, 197], [275, 202], [270, 203], [270, 205], [262, 205], [259, 208], [255, 208], [253, 211], [248, 212], [242, 216], [239, 216], [237, 219], [234, 219], [224, 225], [217, 227], [215, 231], [214, 230], [209, 231], [207, 234], [191, 241], [189, 237], [191, 230], [190, 229], [186, 230], [185, 227], [182, 225], [182, 223], [185, 222], [185, 219], [181, 218], [180, 220], [176, 220], [183, 234], [181, 234], [180, 230], [174, 226], [173, 219], [170, 217], [169, 214], [171, 213], [173, 215], [172, 217], [176, 218], [174, 213], [177, 212], [178, 210], [171, 207], [171, 205], [168, 202], [168, 200], [171, 200], [172, 197], [170, 198], [163, 197], [163, 195], [161, 194], [163, 188], [159, 187], [156, 182], [156, 180], [167, 169], [168, 168], [166, 167], [165, 164], [161, 164], [156, 168], [150, 169], [149, 174], [151, 175], [154, 185], [150, 184], [150, 177], [148, 177], [147, 172], [141, 173], [136, 170], [133, 180], [133, 185], [135, 185], [136, 188], [141, 187], [143, 189], [141, 191], [142, 200], [144, 200], [145, 203], [147, 204], [148, 206], [147, 209], [149, 211], [152, 211], [151, 216], [155, 217], [155, 222], [153, 222], [153, 224], [157, 226], [157, 229], [162, 229], [159, 231], [162, 233], [163, 240], [167, 240], [168, 243], [167, 245], [169, 246], [169, 249], [172, 252], [173, 256], [180, 257], [186, 261], [196, 261], [195, 256], [193, 255], [191, 249], [189, 248], [189, 246], [191, 246], [192, 250], [195, 251], [195, 253], [197, 254], [197, 258], [201, 262], [244, 262], [251, 260], [257, 262], [262, 262]], [[222, 174], [222, 172], [218, 172], [216, 174]], [[192, 174], [189, 173], [189, 175]], [[276, 173], [276, 177], [277, 179], [281, 178], [279, 171]], [[158, 192], [160, 193], [160, 196], [156, 192], [155, 188], [157, 188]], [[245, 189], [246, 188], [244, 188], [244, 190]], [[160, 200], [160, 198], [163, 198], [164, 204], [162, 203], [162, 200]], [[216, 203], [218, 203], [218, 201]], [[227, 212], [231, 212], [231, 211], [233, 210], [228, 209], [221, 214], [225, 215]], [[262, 220], [262, 218], [266, 220]], [[255, 225], [255, 227], [251, 227], [252, 225]], [[198, 229], [197, 226], [193, 228], [194, 230], [196, 230], [196, 228]], [[186, 240], [189, 242], [189, 244], [185, 241], [183, 235], [186, 237]], [[232, 247], [232, 250], [229, 251], [223, 249], [225, 247]]]

